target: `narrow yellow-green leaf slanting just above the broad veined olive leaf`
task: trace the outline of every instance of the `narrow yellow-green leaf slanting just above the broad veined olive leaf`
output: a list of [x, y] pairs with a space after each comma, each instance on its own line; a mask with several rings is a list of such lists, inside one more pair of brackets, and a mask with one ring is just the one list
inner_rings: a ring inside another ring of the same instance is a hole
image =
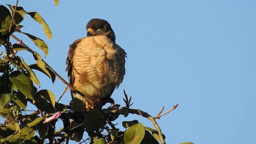
[[20, 66], [20, 68], [26, 69], [28, 76], [32, 80], [32, 82], [34, 82], [35, 84], [40, 86], [40, 82], [39, 82], [38, 78], [36, 77], [35, 73], [31, 70], [31, 68], [28, 66], [28, 64], [26, 64], [26, 62], [24, 62], [20, 57], [15, 56], [12, 63]]

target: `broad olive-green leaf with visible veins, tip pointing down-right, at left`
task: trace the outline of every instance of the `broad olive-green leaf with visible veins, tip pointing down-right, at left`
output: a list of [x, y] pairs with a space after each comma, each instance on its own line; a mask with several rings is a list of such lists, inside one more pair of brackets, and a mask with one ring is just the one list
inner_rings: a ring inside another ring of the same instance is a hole
[[35, 100], [33, 83], [24, 72], [14, 71], [9, 75], [9, 79], [24, 96]]

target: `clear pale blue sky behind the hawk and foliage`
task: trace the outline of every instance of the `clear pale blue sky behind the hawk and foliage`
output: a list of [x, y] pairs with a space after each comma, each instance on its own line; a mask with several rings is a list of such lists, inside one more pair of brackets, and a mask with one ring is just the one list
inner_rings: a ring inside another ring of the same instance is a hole
[[[15, 2], [0, 0], [3, 5]], [[107, 20], [116, 43], [128, 54], [124, 82], [112, 98], [124, 106], [125, 89], [134, 102], [131, 108], [152, 116], [162, 106], [165, 112], [179, 103], [158, 122], [167, 144], [256, 143], [255, 0], [60, 0], [55, 7], [53, 0], [20, 0], [18, 5], [39, 12], [50, 26], [50, 41], [28, 15], [21, 30], [48, 44], [45, 61], [66, 80], [68, 46], [86, 36], [90, 19]], [[16, 36], [44, 56], [26, 36]], [[29, 63], [26, 55], [23, 58]], [[36, 74], [39, 90], [51, 90], [58, 99], [66, 86], [57, 78], [52, 84]], [[70, 100], [67, 92], [60, 102]], [[146, 118], [132, 114], [114, 123], [121, 128], [123, 120], [134, 119], [153, 127]]]

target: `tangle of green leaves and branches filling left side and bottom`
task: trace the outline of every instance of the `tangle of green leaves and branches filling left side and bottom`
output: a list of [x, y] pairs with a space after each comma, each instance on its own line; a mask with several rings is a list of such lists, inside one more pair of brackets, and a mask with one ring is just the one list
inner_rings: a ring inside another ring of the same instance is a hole
[[[58, 3], [59, 0], [54, 0], [55, 6]], [[6, 118], [5, 122], [0, 124], [0, 143], [57, 144], [68, 142], [69, 134], [76, 130], [70, 129], [70, 124], [73, 122], [70, 119], [80, 120], [83, 123], [78, 127], [82, 127], [87, 132], [88, 138], [85, 141], [94, 144], [106, 144], [107, 142], [158, 144], [159, 141], [164, 142], [165, 137], [159, 131], [144, 127], [138, 120], [122, 122], [122, 126], [126, 129], [124, 131], [115, 128], [116, 125], [111, 121], [116, 120], [120, 114], [127, 117], [129, 113], [136, 113], [136, 110], [129, 109], [132, 105], [130, 104], [131, 98], [128, 100], [126, 94], [126, 100], [124, 99], [126, 106], [123, 108], [116, 104], [107, 109], [87, 110], [85, 104], [78, 98], [73, 98], [69, 105], [64, 105], [56, 102], [56, 97], [50, 90], [38, 91], [34, 84], [40, 86], [40, 81], [34, 70], [44, 73], [53, 83], [56, 76], [65, 84], [68, 85], [68, 83], [44, 62], [33, 46], [31, 48], [26, 46], [14, 34], [18, 32], [28, 36], [46, 57], [48, 46], [44, 40], [22, 32], [23, 26], [19, 24], [24, 20], [24, 15], [28, 14], [42, 25], [49, 40], [52, 38], [52, 32], [38, 12], [26, 12], [20, 6], [7, 6], [9, 9], [0, 5], [0, 46], [4, 46], [6, 50], [4, 56], [0, 52], [0, 116]], [[10, 36], [19, 41], [18, 44], [12, 44]], [[28, 65], [22, 57], [17, 56], [17, 52], [21, 50], [31, 53], [32, 55], [28, 56], [36, 60], [36, 64]], [[27, 104], [34, 105], [35, 112], [26, 114]], [[137, 114], [143, 113], [144, 117], [155, 119], [142, 111]], [[63, 121], [64, 127], [60, 130], [55, 130], [57, 118]]]

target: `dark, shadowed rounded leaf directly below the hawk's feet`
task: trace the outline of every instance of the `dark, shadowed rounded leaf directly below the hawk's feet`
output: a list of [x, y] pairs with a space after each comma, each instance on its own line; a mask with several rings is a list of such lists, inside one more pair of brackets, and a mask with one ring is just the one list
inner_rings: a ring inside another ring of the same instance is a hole
[[91, 109], [85, 114], [84, 128], [88, 133], [94, 132], [94, 130], [96, 130], [97, 128], [102, 128], [106, 124], [107, 123], [105, 118], [98, 110]]

